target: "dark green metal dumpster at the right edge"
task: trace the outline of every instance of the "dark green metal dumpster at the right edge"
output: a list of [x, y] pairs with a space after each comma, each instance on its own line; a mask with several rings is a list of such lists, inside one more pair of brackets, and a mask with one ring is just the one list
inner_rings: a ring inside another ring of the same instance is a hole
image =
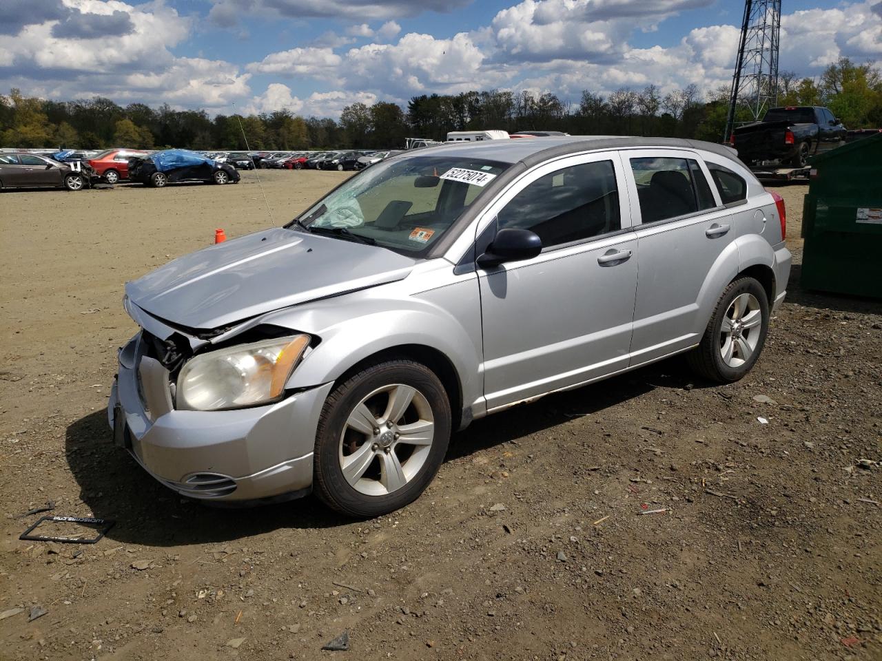
[[882, 298], [882, 134], [811, 160], [805, 289]]

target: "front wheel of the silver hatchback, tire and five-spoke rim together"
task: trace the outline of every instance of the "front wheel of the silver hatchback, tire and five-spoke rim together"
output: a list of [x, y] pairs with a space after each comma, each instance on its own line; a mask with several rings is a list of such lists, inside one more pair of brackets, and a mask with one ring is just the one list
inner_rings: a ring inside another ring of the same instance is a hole
[[450, 441], [444, 386], [425, 366], [391, 360], [333, 390], [318, 422], [318, 497], [348, 516], [388, 514], [434, 479]]

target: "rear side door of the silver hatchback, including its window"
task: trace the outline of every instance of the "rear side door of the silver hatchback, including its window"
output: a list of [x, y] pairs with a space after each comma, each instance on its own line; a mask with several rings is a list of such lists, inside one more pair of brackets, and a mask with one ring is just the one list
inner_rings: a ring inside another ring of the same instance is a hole
[[698, 154], [622, 153], [639, 248], [631, 345], [637, 365], [699, 343], [707, 321], [699, 293], [714, 264], [736, 251], [736, 231]]

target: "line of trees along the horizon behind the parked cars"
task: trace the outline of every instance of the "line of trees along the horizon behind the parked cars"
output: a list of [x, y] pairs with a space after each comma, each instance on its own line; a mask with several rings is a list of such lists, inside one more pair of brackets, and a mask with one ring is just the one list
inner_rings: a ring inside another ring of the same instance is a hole
[[[882, 127], [882, 74], [870, 64], [841, 58], [817, 79], [781, 72], [779, 105], [826, 106], [848, 129]], [[657, 85], [622, 87], [609, 95], [586, 90], [578, 104], [553, 93], [491, 90], [423, 94], [401, 108], [378, 101], [354, 103], [340, 120], [277, 110], [258, 115], [215, 115], [168, 104], [120, 106], [104, 97], [43, 100], [12, 89], [0, 95], [0, 146], [98, 149], [298, 150], [401, 148], [405, 137], [443, 140], [452, 130], [560, 130], [572, 135], [692, 137], [720, 142], [729, 88], [708, 95], [696, 85], [662, 94]], [[748, 121], [739, 108], [738, 121]]]

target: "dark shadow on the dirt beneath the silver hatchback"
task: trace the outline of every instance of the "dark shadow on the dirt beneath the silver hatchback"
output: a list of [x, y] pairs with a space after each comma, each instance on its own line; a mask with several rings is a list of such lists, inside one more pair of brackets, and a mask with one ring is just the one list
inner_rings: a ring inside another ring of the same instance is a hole
[[[660, 385], [703, 388], [713, 384], [695, 380], [682, 358], [665, 360], [609, 381], [549, 395], [534, 404], [476, 420], [465, 431], [453, 435], [446, 461], [622, 405]], [[107, 413], [93, 412], [67, 427], [65, 451], [80, 487], [79, 497], [92, 516], [116, 521], [107, 534], [115, 541], [187, 546], [228, 542], [283, 528], [328, 528], [352, 523], [352, 519], [335, 514], [311, 495], [248, 509], [218, 509], [183, 499], [113, 445], [111, 436]]]

